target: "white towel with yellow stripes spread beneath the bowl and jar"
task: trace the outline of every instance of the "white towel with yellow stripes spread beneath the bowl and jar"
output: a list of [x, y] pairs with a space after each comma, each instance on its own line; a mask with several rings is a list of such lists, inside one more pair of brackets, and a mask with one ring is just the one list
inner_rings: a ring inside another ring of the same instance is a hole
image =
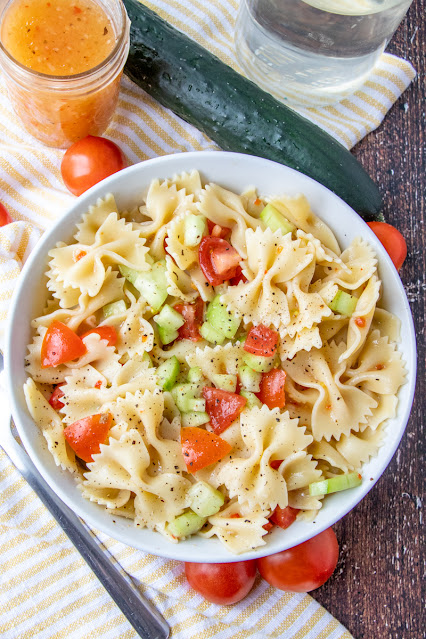
[[[147, 4], [238, 68], [232, 40], [237, 0], [154, 0]], [[356, 95], [335, 107], [300, 111], [350, 148], [380, 124], [414, 76], [408, 62], [385, 54]], [[123, 78], [120, 103], [106, 135], [122, 147], [130, 163], [216, 148], [127, 78]], [[22, 264], [42, 231], [74, 201], [61, 181], [62, 155], [63, 151], [41, 146], [23, 130], [0, 77], [0, 201], [16, 220], [0, 229], [0, 333]], [[0, 636], [136, 637], [35, 494], [0, 453]], [[351, 637], [308, 595], [283, 593], [259, 579], [241, 603], [216, 606], [188, 588], [179, 562], [136, 551], [97, 531], [93, 534], [162, 611], [174, 639]]]

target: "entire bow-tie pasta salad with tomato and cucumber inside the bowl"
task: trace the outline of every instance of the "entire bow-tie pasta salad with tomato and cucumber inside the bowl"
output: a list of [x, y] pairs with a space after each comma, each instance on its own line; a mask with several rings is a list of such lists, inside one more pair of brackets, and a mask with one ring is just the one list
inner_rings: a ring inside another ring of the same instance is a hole
[[340, 247], [303, 195], [194, 170], [136, 204], [108, 195], [49, 252], [28, 410], [86, 499], [243, 553], [377, 454], [405, 382], [399, 322], [373, 249]]

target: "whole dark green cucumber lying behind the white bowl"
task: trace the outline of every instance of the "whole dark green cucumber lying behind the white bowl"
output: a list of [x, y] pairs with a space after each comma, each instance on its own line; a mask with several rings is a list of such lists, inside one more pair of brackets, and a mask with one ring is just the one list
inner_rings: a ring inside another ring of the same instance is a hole
[[124, 72], [149, 95], [225, 151], [285, 164], [334, 191], [365, 220], [383, 219], [377, 186], [334, 138], [138, 0], [124, 5], [131, 21]]

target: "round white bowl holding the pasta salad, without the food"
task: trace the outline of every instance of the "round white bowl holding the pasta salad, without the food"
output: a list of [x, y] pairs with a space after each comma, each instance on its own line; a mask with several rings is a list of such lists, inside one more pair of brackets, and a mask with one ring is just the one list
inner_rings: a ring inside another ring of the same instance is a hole
[[[400, 389], [397, 415], [389, 420], [386, 440], [379, 454], [363, 467], [362, 484], [328, 496], [311, 523], [296, 521], [285, 531], [275, 527], [265, 546], [244, 555], [231, 554], [216, 539], [197, 536], [172, 544], [160, 533], [136, 529], [131, 521], [113, 518], [100, 506], [84, 499], [72, 476], [55, 465], [44, 437], [28, 413], [23, 393], [27, 378], [24, 359], [27, 344], [31, 342], [30, 321], [42, 313], [46, 298], [44, 273], [48, 251], [56, 242], [70, 240], [82, 214], [106, 193], [114, 194], [120, 210], [129, 209], [141, 202], [141, 194], [154, 178], [170, 178], [192, 169], [198, 169], [205, 181], [216, 182], [236, 192], [254, 185], [260, 195], [304, 193], [313, 211], [332, 228], [342, 247], [356, 236], [365, 237], [378, 256], [384, 306], [402, 323], [399, 348], [406, 362], [407, 381]], [[347, 204], [314, 180], [281, 164], [249, 155], [203, 151], [148, 160], [112, 175], [79, 197], [68, 213], [43, 236], [25, 264], [14, 294], [9, 313], [5, 370], [13, 418], [25, 448], [45, 480], [80, 517], [111, 537], [154, 555], [182, 561], [225, 562], [262, 557], [302, 543], [341, 519], [371, 490], [395, 453], [408, 421], [415, 386], [416, 342], [410, 308], [398, 273], [376, 236]]]

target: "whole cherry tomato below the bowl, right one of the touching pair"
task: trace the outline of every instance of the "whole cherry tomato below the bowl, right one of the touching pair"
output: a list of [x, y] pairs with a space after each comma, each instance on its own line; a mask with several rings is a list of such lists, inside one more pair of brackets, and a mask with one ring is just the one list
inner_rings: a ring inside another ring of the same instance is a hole
[[334, 572], [339, 545], [332, 528], [299, 546], [257, 560], [262, 577], [275, 588], [309, 592], [322, 586]]

